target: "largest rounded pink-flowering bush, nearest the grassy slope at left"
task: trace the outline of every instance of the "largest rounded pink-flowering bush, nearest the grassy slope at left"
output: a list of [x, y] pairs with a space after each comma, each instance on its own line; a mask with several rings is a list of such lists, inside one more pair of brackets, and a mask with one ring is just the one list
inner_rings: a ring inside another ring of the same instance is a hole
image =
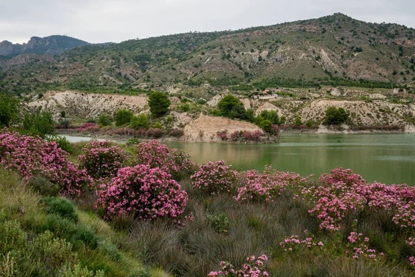
[[185, 210], [187, 193], [171, 177], [147, 165], [122, 168], [111, 184], [100, 186], [97, 207], [103, 208], [107, 219], [127, 213], [136, 213], [141, 220], [176, 219]]

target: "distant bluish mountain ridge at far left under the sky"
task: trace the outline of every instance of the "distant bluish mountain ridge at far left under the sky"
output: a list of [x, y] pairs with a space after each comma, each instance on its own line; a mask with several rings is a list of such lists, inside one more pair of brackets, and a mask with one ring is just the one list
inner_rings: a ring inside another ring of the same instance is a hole
[[89, 44], [80, 39], [65, 35], [51, 35], [50, 37], [32, 37], [28, 43], [12, 44], [7, 40], [0, 42], [0, 56], [12, 57], [24, 53], [38, 53], [59, 55], [77, 46]]

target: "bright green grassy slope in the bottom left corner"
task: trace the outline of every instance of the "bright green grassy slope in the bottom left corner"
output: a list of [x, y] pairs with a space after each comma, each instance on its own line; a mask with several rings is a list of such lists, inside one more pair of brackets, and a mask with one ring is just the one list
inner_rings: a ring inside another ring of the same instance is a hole
[[0, 170], [0, 276], [168, 276], [123, 246], [127, 233], [33, 190], [46, 186], [45, 179], [26, 184]]

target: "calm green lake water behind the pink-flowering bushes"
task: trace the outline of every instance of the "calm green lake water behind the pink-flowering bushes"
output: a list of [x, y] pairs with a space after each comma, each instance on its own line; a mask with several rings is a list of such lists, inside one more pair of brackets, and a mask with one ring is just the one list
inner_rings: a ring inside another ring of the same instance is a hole
[[[71, 142], [89, 138], [67, 136]], [[236, 170], [272, 165], [317, 177], [351, 168], [367, 181], [415, 186], [415, 134], [282, 134], [279, 144], [169, 143], [196, 163], [223, 159]]]

